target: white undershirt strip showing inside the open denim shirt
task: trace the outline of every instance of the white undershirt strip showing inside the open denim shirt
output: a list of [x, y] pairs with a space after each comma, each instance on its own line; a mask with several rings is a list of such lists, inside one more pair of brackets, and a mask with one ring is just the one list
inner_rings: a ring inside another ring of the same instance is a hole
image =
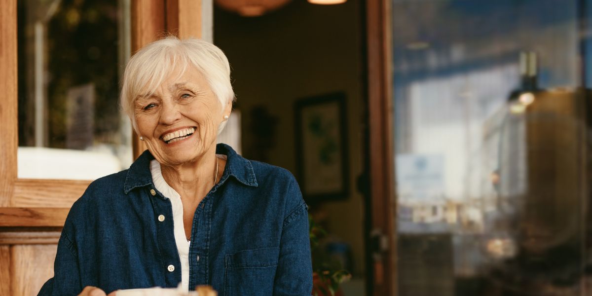
[[183, 203], [181, 195], [175, 189], [166, 184], [165, 178], [162, 178], [160, 163], [153, 159], [150, 161], [150, 173], [154, 186], [162, 195], [170, 200], [173, 206], [173, 226], [175, 227], [175, 243], [181, 259], [181, 286], [184, 291], [189, 291], [189, 241], [185, 238], [185, 228], [183, 226]]

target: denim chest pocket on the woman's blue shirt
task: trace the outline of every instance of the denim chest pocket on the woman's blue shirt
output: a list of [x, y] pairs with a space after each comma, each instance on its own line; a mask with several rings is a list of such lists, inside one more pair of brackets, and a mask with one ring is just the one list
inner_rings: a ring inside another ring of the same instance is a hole
[[242, 250], [226, 255], [224, 296], [272, 295], [279, 247]]

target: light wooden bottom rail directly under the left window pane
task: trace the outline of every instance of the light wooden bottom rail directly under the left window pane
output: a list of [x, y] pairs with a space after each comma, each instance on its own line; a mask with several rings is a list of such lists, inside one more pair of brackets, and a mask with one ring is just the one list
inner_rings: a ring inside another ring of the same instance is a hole
[[91, 181], [17, 179], [12, 207], [69, 208], [82, 196]]

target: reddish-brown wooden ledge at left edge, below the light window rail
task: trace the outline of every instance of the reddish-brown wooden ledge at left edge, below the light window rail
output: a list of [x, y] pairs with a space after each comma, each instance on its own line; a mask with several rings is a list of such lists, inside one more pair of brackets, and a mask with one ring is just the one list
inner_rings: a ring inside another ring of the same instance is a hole
[[63, 227], [70, 208], [0, 208], [0, 227]]

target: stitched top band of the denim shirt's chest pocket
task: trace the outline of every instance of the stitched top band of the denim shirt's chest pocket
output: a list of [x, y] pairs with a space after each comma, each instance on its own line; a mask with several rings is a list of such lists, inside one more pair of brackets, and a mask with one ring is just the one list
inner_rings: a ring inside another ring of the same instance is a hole
[[254, 250], [242, 250], [233, 255], [226, 255], [226, 267], [250, 268], [278, 265], [279, 247], [263, 247]]

